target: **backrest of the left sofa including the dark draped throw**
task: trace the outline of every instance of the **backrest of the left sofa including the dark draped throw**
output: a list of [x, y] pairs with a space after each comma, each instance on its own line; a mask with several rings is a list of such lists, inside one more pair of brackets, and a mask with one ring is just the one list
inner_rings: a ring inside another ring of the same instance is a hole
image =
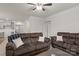
[[25, 44], [31, 44], [31, 43], [37, 42], [39, 40], [39, 36], [43, 36], [43, 34], [41, 32], [40, 33], [20, 33], [20, 34], [14, 34], [14, 35], [8, 36], [8, 41], [13, 42], [12, 40], [15, 40], [18, 37], [21, 37], [21, 40]]

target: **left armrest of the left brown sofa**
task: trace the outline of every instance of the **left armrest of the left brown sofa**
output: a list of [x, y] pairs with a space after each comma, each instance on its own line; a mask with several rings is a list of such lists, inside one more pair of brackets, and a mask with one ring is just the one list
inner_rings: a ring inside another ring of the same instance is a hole
[[14, 50], [16, 49], [16, 46], [12, 42], [8, 42], [6, 45], [6, 55], [12, 56], [14, 54]]

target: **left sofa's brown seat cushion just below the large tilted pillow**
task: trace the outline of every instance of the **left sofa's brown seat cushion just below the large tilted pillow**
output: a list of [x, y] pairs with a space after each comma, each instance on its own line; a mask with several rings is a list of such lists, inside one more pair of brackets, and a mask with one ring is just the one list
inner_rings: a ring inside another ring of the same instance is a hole
[[14, 51], [14, 55], [21, 55], [21, 54], [28, 53], [34, 50], [35, 50], [34, 45], [30, 46], [28, 44], [24, 44]]

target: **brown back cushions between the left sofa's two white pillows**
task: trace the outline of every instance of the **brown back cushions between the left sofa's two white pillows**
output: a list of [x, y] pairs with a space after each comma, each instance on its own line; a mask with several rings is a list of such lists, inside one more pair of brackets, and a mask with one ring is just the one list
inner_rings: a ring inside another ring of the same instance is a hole
[[43, 36], [42, 33], [22, 33], [21, 38], [24, 43], [35, 43], [38, 41], [39, 36]]

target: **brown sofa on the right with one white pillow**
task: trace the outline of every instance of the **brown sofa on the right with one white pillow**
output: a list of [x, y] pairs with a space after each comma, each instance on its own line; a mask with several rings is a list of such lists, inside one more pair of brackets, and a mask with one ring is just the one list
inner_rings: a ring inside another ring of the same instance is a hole
[[63, 41], [57, 41], [57, 36], [52, 36], [52, 47], [59, 48], [75, 56], [79, 55], [79, 33], [58, 32], [57, 35], [62, 36]]

